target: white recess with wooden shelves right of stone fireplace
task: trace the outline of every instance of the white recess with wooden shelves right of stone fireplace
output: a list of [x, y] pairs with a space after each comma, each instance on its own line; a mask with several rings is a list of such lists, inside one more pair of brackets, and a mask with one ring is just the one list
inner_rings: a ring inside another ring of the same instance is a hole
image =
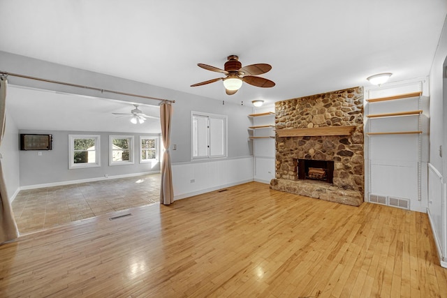
[[[426, 126], [423, 126], [422, 122], [424, 110], [422, 105], [422, 91], [420, 91], [422, 90], [422, 84], [420, 84], [419, 88], [418, 91], [398, 94], [397, 90], [404, 90], [404, 87], [402, 89], [396, 87], [396, 95], [369, 98], [366, 100], [368, 104], [367, 109], [365, 109], [365, 117], [368, 120], [365, 126], [365, 135], [367, 135], [368, 142], [367, 170], [369, 172], [367, 174], [367, 189], [369, 194], [372, 193], [373, 180], [375, 191], [381, 188], [384, 190], [388, 189], [388, 182], [383, 181], [382, 177], [383, 173], [387, 170], [382, 165], [378, 165], [376, 161], [390, 158], [387, 154], [397, 156], [400, 154], [399, 151], [407, 151], [402, 152], [402, 155], [407, 156], [407, 158], [415, 158], [413, 161], [417, 161], [418, 201], [422, 198], [420, 184], [422, 173], [422, 143], [423, 131]], [[390, 87], [383, 88], [383, 91], [388, 94], [392, 92]], [[380, 91], [374, 93], [380, 94]], [[387, 150], [385, 148], [387, 144], [392, 148]], [[417, 149], [414, 147], [405, 147], [413, 146], [413, 144], [417, 144]], [[417, 156], [412, 154], [417, 154]], [[415, 169], [410, 171], [413, 170]], [[400, 169], [390, 167], [390, 171], [400, 172]]]

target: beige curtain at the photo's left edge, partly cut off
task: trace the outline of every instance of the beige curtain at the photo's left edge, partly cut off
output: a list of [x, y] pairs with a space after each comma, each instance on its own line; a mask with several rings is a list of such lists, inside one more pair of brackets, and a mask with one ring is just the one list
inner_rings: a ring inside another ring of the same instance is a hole
[[[5, 133], [6, 124], [6, 89], [8, 88], [8, 81], [5, 78], [0, 80], [0, 146], [1, 140]], [[19, 237], [19, 230], [14, 220], [13, 209], [8, 200], [8, 193], [6, 192], [5, 179], [3, 177], [3, 168], [0, 158], [0, 243], [9, 241]]]

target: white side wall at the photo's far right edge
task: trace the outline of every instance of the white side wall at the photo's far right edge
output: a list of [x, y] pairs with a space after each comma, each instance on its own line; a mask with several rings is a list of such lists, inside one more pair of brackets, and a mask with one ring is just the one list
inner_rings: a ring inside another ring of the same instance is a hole
[[[447, 267], [446, 177], [447, 172], [447, 20], [430, 70], [430, 159], [428, 214], [441, 265]], [[442, 151], [440, 147], [442, 146]]]

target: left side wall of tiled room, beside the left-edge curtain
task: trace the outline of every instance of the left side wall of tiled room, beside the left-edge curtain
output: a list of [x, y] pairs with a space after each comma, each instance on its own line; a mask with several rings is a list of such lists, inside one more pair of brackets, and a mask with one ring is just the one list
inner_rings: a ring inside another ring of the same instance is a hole
[[[6, 98], [8, 103], [8, 98]], [[8, 117], [8, 104], [6, 105], [6, 131], [1, 142], [1, 167], [6, 182], [8, 199], [12, 202], [20, 190], [19, 172], [19, 131], [17, 125]]]

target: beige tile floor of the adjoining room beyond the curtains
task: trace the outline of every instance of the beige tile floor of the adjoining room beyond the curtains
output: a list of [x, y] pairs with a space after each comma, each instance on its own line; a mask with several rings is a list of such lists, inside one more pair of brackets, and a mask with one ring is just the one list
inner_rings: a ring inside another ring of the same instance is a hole
[[13, 200], [20, 234], [160, 202], [160, 174], [20, 191]]

